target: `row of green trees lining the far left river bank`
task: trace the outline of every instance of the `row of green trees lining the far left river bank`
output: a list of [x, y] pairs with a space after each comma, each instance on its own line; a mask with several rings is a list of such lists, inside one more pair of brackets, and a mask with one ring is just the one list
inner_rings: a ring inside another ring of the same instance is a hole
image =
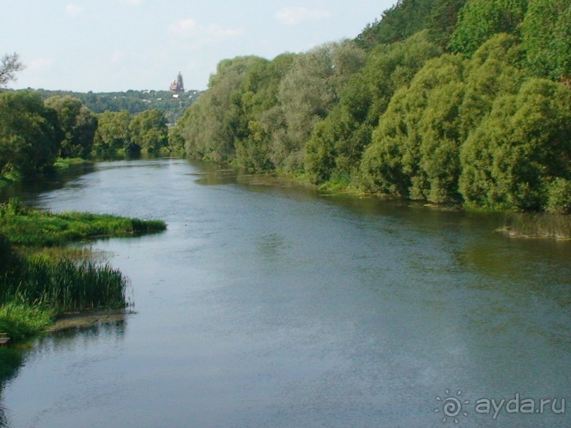
[[70, 96], [42, 100], [35, 91], [0, 93], [0, 175], [31, 178], [50, 172], [57, 158], [90, 158], [168, 147], [160, 110], [96, 115]]

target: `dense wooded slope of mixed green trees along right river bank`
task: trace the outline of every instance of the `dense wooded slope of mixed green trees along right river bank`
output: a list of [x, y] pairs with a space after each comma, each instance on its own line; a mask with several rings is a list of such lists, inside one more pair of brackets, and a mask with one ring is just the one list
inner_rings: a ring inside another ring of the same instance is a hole
[[571, 210], [571, 3], [400, 0], [355, 40], [225, 59], [188, 155], [474, 207]]

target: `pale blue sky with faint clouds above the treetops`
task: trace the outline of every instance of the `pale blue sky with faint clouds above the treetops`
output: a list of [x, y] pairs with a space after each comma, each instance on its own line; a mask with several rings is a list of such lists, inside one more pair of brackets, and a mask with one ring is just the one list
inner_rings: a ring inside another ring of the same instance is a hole
[[218, 62], [272, 59], [354, 38], [396, 0], [0, 0], [0, 55], [25, 70], [8, 88], [204, 90]]

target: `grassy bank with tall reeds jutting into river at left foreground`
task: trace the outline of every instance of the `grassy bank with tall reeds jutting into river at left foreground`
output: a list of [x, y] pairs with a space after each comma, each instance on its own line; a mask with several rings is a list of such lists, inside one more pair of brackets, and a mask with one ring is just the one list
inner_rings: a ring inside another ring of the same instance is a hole
[[163, 221], [54, 214], [18, 199], [0, 205], [0, 332], [11, 338], [9, 347], [0, 347], [0, 380], [21, 362], [18, 343], [45, 331], [62, 313], [129, 304], [127, 278], [119, 270], [64, 245], [164, 229]]

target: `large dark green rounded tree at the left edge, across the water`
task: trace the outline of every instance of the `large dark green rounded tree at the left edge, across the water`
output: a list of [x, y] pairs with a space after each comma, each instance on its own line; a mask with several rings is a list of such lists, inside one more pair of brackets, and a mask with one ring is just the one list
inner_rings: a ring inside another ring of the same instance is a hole
[[44, 173], [54, 163], [62, 132], [57, 113], [31, 91], [0, 93], [0, 174]]

